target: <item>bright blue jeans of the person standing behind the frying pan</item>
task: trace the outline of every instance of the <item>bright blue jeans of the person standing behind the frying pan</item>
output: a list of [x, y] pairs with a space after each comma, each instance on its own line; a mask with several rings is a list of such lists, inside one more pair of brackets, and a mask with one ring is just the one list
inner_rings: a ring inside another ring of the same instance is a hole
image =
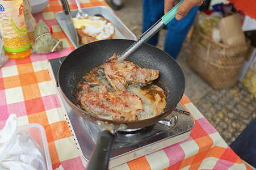
[[[164, 15], [164, 0], [143, 0], [142, 1], [142, 32], [145, 32]], [[182, 48], [182, 43], [187, 32], [194, 23], [196, 12], [199, 6], [193, 7], [182, 20], [171, 20], [166, 25], [166, 37], [164, 51], [176, 59]], [[159, 33], [156, 33], [146, 43], [157, 45]]]

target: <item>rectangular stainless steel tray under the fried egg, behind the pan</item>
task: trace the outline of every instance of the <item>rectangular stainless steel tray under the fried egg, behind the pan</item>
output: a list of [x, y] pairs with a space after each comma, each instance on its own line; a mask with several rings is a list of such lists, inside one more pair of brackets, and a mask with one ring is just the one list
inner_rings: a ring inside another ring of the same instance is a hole
[[[129, 40], [137, 40], [137, 37], [124, 25], [123, 22], [113, 13], [110, 11], [109, 8], [106, 6], [94, 6], [94, 7], [88, 7], [88, 8], [82, 8], [83, 12], [86, 12], [88, 15], [95, 15], [100, 14], [104, 18], [110, 20], [114, 26], [115, 26], [115, 39], [129, 39]], [[75, 14], [77, 14], [78, 10], [70, 10], [70, 15], [72, 17], [75, 17]], [[57, 12], [54, 14], [54, 17], [56, 18], [58, 24], [60, 24], [62, 30], [68, 37], [68, 39], [72, 42], [70, 39], [70, 35], [68, 33], [68, 27], [66, 26], [66, 18], [68, 15], [64, 14], [64, 11]], [[74, 42], [72, 42], [74, 45]], [[79, 43], [78, 47], [83, 44]]]

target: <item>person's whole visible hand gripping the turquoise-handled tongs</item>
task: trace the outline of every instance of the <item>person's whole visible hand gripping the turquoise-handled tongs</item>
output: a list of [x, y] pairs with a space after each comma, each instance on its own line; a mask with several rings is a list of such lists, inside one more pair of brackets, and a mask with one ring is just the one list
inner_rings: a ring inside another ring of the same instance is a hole
[[[194, 6], [200, 6], [204, 0], [184, 0], [177, 8], [175, 18], [181, 20], [187, 15], [187, 12]], [[175, 5], [179, 3], [179, 0], [165, 0], [165, 14], [171, 10]]]

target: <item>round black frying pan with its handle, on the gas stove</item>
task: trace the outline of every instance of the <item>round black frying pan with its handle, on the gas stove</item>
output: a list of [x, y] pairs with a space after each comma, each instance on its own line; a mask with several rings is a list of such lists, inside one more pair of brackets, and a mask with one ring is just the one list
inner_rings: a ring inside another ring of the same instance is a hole
[[179, 66], [175, 59], [162, 50], [149, 44], [142, 44], [126, 60], [142, 68], [159, 70], [160, 76], [154, 83], [165, 90], [167, 104], [164, 113], [141, 121], [112, 121], [87, 113], [74, 104], [75, 97], [73, 96], [73, 90], [82, 77], [94, 67], [102, 65], [114, 53], [123, 53], [133, 42], [135, 41], [123, 39], [91, 42], [70, 53], [61, 63], [60, 69], [58, 70], [58, 83], [62, 95], [74, 112], [86, 120], [103, 125], [103, 128], [107, 129], [99, 133], [96, 150], [87, 169], [108, 168], [110, 149], [115, 137], [113, 129], [115, 131], [120, 125], [121, 128], [126, 129], [144, 128], [153, 125], [170, 114], [176, 108], [184, 94], [186, 81], [181, 66]]

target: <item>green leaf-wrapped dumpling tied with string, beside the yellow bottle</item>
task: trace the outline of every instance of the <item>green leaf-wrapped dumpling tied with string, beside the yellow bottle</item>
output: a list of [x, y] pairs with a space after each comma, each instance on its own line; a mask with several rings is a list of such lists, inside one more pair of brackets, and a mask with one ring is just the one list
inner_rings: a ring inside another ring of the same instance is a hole
[[63, 48], [62, 41], [55, 39], [47, 24], [39, 20], [33, 33], [34, 42], [31, 45], [31, 53], [47, 54]]

